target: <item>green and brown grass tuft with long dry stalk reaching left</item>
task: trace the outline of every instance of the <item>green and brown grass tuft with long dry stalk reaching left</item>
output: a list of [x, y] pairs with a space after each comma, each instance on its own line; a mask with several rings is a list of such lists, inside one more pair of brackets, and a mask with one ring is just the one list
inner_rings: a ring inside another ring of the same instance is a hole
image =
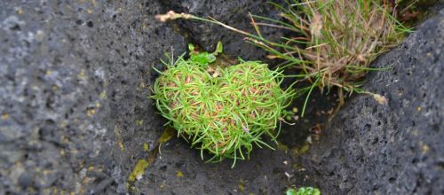
[[[344, 91], [372, 94], [360, 89], [363, 78], [371, 70], [384, 68], [371, 68], [370, 62], [409, 32], [396, 20], [395, 7], [382, 0], [294, 0], [274, 6], [283, 20], [250, 14], [255, 34], [186, 13], [169, 12], [158, 19], [184, 18], [221, 25], [246, 35], [248, 42], [270, 53], [268, 58], [283, 59], [282, 68], [297, 68], [299, 73], [289, 76], [311, 83], [297, 90], [298, 96], [306, 95], [302, 115], [314, 88], [329, 91], [337, 87], [338, 107], [344, 102]], [[260, 27], [278, 27], [289, 34], [271, 41], [261, 35]]]

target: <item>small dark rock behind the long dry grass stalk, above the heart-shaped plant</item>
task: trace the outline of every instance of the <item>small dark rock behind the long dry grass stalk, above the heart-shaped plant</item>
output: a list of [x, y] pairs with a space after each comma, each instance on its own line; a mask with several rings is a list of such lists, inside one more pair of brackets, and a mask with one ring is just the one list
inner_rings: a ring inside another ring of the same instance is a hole
[[[272, 4], [266, 0], [259, 1], [224, 1], [224, 0], [165, 0], [163, 4], [169, 10], [175, 12], [191, 13], [202, 18], [212, 17], [231, 27], [236, 27], [246, 32], [256, 34], [250, 24], [249, 12], [253, 15], [277, 18], [278, 13]], [[280, 3], [283, 1], [274, 1]], [[241, 41], [245, 35], [240, 35], [225, 27], [194, 20], [176, 21], [184, 31], [186, 38], [193, 43], [199, 44], [203, 50], [214, 51], [216, 43], [221, 41], [225, 46], [225, 53], [237, 58], [242, 57], [249, 60], [266, 59], [266, 52]], [[274, 27], [260, 27], [261, 34], [271, 40], [281, 37], [282, 31]]]

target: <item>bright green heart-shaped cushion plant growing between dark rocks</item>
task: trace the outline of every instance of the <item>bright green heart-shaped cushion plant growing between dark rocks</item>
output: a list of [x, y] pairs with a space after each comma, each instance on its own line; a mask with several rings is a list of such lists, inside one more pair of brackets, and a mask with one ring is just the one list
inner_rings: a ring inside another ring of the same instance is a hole
[[155, 82], [157, 108], [179, 134], [214, 154], [211, 160], [245, 159], [253, 143], [265, 144], [263, 134], [277, 136], [292, 92], [281, 90], [280, 73], [259, 62], [218, 67], [217, 74], [209, 69], [183, 58], [169, 65]]

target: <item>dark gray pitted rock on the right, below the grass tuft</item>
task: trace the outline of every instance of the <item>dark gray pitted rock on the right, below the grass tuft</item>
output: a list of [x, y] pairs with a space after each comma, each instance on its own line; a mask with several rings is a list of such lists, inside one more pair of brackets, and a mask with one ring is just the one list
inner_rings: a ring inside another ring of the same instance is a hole
[[444, 194], [444, 10], [373, 63], [304, 166], [325, 194]]

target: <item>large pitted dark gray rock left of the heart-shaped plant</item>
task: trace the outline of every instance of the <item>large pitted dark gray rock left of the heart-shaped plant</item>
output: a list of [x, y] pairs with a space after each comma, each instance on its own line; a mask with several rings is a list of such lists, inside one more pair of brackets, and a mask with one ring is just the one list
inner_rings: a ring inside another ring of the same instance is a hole
[[155, 22], [157, 2], [0, 6], [0, 194], [124, 191], [136, 145], [162, 131], [151, 66], [182, 36]]

